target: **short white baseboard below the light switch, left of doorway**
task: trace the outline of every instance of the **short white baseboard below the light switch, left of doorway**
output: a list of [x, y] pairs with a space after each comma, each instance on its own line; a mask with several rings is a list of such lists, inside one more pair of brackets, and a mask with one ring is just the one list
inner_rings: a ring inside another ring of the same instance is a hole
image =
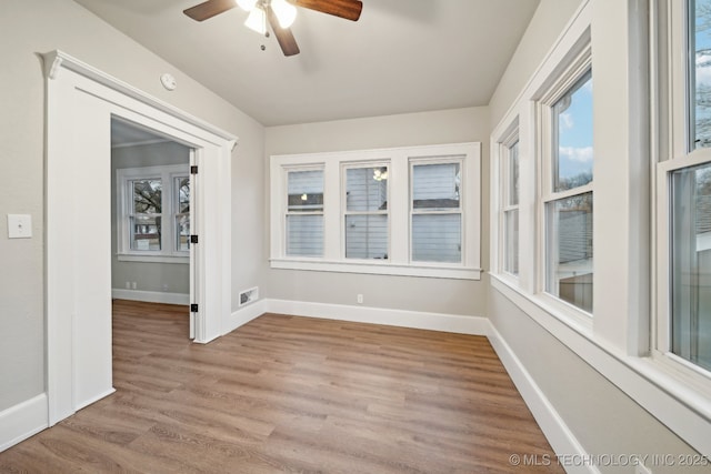
[[0, 412], [0, 452], [49, 426], [47, 394]]

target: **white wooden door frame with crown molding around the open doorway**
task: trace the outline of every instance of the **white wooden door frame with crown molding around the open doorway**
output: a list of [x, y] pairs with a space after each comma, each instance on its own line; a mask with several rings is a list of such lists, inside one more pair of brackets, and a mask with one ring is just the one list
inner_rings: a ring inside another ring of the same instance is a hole
[[[200, 215], [196, 252], [196, 342], [222, 334], [231, 314], [231, 154], [237, 137], [162, 102], [62, 51], [43, 54], [47, 85], [46, 321], [49, 425], [111, 393], [110, 250], [91, 262], [77, 244], [77, 177], [110, 193], [110, 119], [157, 130], [196, 150]], [[91, 117], [88, 117], [91, 115]], [[92, 133], [81, 133], [90, 123]], [[106, 173], [104, 173], [106, 171]], [[96, 181], [94, 181], [96, 180]], [[110, 249], [110, 199], [96, 209], [94, 255]], [[103, 209], [106, 208], [106, 209]], [[100, 215], [103, 215], [106, 220]], [[109, 225], [108, 232], [106, 225]], [[194, 232], [194, 231], [193, 231]], [[108, 242], [103, 242], [109, 239]], [[91, 294], [84, 286], [92, 285]], [[104, 288], [106, 286], [106, 288]], [[89, 311], [90, 310], [90, 311]], [[87, 337], [87, 335], [90, 337]]]

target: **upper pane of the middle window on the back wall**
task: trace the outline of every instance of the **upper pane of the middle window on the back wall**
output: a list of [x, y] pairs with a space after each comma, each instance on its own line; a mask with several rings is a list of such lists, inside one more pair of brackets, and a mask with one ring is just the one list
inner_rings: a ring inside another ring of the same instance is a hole
[[388, 168], [350, 168], [346, 170], [347, 211], [384, 211], [388, 209]]

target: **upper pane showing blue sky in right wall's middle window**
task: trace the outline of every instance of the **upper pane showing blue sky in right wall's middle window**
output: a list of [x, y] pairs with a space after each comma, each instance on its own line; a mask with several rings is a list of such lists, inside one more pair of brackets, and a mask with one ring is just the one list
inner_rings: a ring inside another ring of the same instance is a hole
[[592, 71], [553, 104], [553, 191], [592, 181]]

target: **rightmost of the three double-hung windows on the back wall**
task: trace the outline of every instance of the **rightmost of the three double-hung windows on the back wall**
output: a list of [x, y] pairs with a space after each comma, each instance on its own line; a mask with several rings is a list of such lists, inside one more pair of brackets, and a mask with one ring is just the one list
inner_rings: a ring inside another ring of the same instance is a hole
[[459, 160], [412, 163], [413, 262], [461, 263], [461, 167]]

